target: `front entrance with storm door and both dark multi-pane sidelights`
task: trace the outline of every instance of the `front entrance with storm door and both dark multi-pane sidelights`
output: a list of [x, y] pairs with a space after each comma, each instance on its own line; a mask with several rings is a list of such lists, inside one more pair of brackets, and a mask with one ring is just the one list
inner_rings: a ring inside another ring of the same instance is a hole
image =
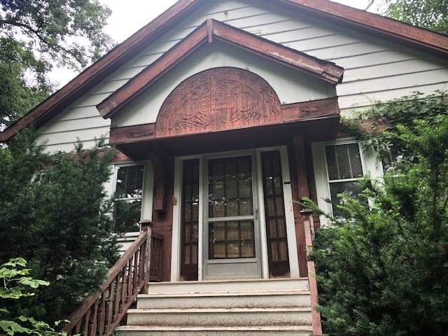
[[[283, 198], [281, 151], [181, 162], [180, 280], [298, 274], [289, 263], [297, 254], [288, 249], [295, 246], [295, 229], [292, 207], [286, 211]], [[289, 179], [287, 171], [284, 176]], [[290, 184], [285, 186], [290, 195]]]

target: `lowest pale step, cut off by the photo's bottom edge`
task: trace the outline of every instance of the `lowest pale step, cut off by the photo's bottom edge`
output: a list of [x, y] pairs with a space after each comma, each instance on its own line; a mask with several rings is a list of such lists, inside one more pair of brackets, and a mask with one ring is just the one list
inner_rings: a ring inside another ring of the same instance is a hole
[[309, 336], [311, 325], [263, 327], [148, 327], [124, 325], [117, 331], [123, 336]]

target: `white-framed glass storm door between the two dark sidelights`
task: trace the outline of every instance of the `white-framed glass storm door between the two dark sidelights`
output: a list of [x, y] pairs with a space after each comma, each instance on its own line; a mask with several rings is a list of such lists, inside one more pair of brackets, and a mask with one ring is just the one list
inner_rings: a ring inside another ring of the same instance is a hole
[[253, 157], [207, 161], [204, 279], [261, 276]]

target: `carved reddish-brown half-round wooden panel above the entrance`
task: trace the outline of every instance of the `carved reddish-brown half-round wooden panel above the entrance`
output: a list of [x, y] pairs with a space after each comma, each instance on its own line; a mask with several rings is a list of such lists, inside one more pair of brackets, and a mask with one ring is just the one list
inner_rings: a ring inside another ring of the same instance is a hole
[[244, 69], [215, 68], [191, 76], [169, 94], [155, 122], [155, 137], [281, 121], [279, 98], [266, 80]]

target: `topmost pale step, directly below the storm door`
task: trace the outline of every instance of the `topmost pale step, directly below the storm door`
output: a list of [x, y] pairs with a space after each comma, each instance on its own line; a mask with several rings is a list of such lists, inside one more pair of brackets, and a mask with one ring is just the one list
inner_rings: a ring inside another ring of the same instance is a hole
[[149, 293], [211, 293], [265, 290], [308, 290], [308, 279], [251, 279], [152, 282]]

